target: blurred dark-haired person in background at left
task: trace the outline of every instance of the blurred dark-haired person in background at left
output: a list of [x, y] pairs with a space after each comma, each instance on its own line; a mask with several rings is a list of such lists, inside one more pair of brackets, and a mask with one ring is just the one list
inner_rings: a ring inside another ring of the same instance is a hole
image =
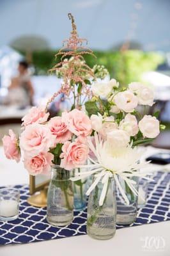
[[16, 77], [12, 77], [5, 104], [19, 108], [33, 105], [34, 90], [28, 67], [29, 65], [26, 61], [19, 62], [19, 74]]

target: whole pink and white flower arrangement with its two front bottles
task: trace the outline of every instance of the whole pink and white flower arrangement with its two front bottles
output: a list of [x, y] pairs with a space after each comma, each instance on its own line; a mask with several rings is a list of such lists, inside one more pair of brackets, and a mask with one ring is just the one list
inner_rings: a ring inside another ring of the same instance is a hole
[[[22, 118], [19, 138], [12, 130], [4, 136], [4, 152], [8, 159], [17, 162], [22, 155], [31, 175], [47, 174], [54, 166], [47, 205], [47, 220], [52, 225], [72, 221], [71, 180], [93, 175], [87, 191], [88, 234], [108, 239], [114, 234], [116, 222], [114, 184], [123, 202], [130, 204], [127, 191], [131, 197], [138, 194], [133, 178], [146, 176], [139, 171], [144, 164], [140, 163], [137, 145], [157, 137], [161, 126], [155, 116], [141, 115], [138, 111], [139, 106], [153, 105], [150, 88], [140, 83], [123, 88], [115, 79], [104, 82], [102, 79], [108, 76], [104, 67], [86, 65], [84, 54], [93, 52], [82, 46], [86, 40], [77, 35], [73, 16], [69, 13], [68, 17], [72, 20], [71, 36], [57, 54], [61, 61], [51, 69], [62, 77], [61, 89], [46, 107], [33, 107]], [[60, 93], [72, 101], [72, 108], [61, 116], [49, 118], [48, 106]], [[84, 171], [71, 177], [70, 171], [76, 168]], [[63, 200], [58, 199], [61, 193], [56, 188], [63, 193]], [[101, 218], [105, 220], [104, 227]]]

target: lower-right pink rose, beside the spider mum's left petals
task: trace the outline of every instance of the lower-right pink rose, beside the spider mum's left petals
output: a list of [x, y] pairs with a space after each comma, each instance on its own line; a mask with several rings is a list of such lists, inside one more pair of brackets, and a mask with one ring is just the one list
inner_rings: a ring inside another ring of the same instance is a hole
[[79, 164], [84, 164], [88, 159], [89, 148], [87, 144], [81, 142], [78, 139], [73, 142], [66, 141], [62, 147], [61, 158], [61, 168], [66, 170], [72, 170], [79, 166]]

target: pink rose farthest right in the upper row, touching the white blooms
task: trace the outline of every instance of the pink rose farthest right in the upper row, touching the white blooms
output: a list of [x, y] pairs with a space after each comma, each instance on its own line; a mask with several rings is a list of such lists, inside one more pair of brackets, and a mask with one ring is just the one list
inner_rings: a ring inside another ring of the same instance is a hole
[[77, 136], [89, 136], [92, 131], [91, 120], [81, 110], [73, 109], [62, 114], [62, 121]]

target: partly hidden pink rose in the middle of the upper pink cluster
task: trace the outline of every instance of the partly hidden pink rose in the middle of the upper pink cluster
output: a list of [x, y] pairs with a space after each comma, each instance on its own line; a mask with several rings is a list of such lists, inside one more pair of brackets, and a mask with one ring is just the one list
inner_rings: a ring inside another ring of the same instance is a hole
[[61, 116], [50, 118], [48, 126], [51, 134], [56, 137], [56, 144], [71, 140], [72, 132], [70, 132], [66, 124], [62, 122]]

